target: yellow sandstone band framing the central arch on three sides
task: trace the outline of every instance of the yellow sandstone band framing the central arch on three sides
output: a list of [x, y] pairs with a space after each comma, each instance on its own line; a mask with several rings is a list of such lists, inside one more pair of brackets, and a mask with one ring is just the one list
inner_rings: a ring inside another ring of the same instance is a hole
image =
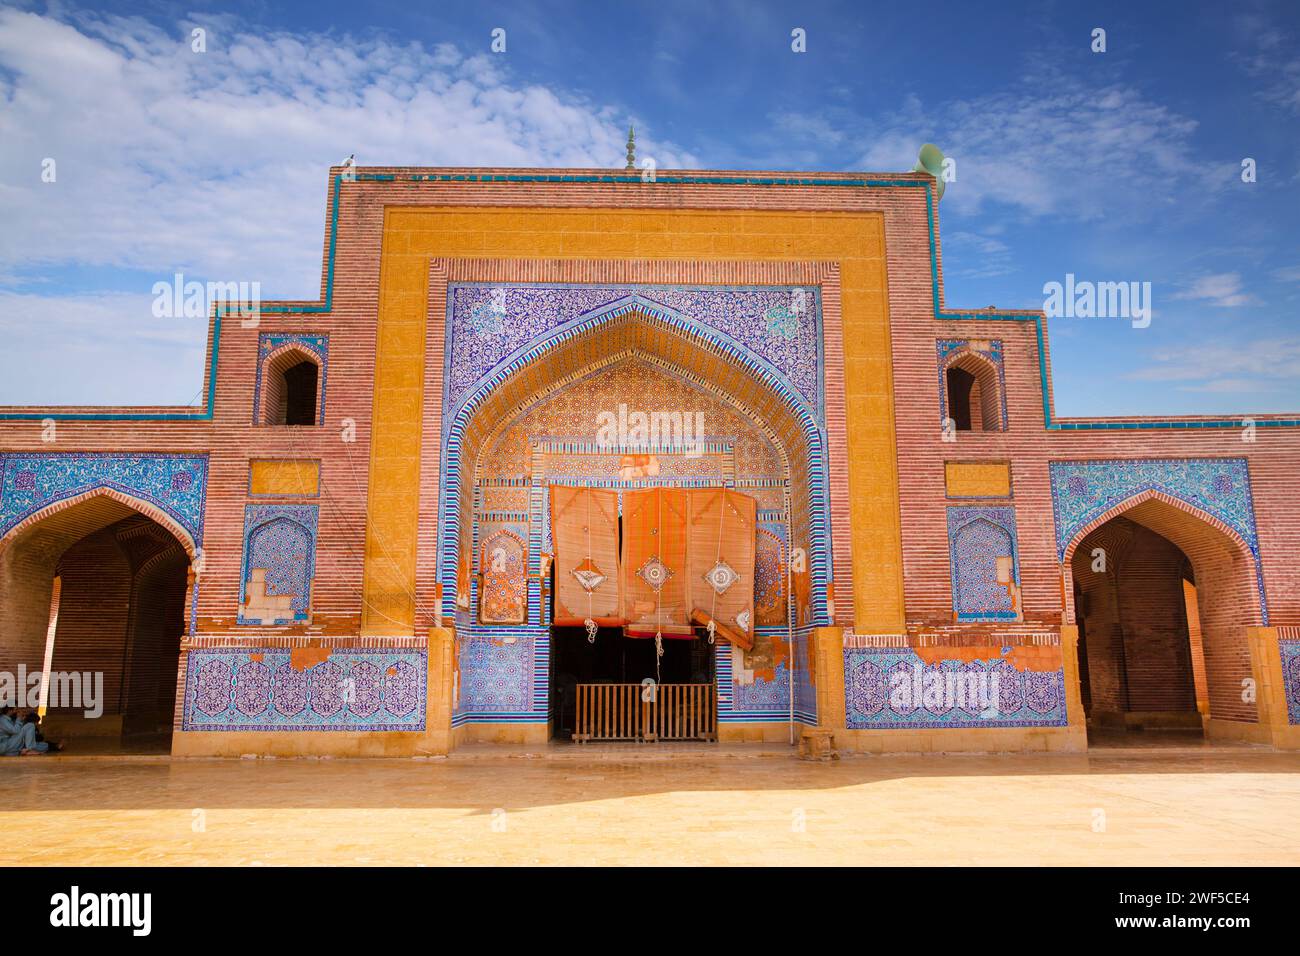
[[[840, 264], [855, 623], [904, 628], [884, 217], [876, 212], [390, 207], [385, 211], [363, 635], [416, 627], [429, 261], [754, 259]], [[437, 423], [429, 423], [437, 434]], [[434, 481], [437, 476], [424, 476]], [[836, 528], [836, 533], [844, 533]], [[433, 596], [419, 596], [430, 604]], [[845, 602], [848, 596], [838, 596]], [[842, 669], [840, 669], [842, 672]], [[842, 719], [842, 717], [840, 718]]]

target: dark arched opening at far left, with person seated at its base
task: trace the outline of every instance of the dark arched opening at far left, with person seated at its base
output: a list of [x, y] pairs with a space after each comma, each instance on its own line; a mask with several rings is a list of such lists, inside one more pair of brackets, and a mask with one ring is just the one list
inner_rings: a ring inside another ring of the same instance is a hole
[[0, 538], [5, 670], [39, 675], [53, 626], [49, 736], [166, 749], [196, 555], [162, 509], [107, 486], [48, 505]]

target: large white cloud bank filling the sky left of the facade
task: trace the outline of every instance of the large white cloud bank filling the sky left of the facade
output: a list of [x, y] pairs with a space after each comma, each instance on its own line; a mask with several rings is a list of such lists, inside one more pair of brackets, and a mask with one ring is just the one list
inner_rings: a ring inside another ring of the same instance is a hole
[[[179, 271], [259, 281], [266, 298], [313, 299], [326, 170], [348, 153], [361, 165], [623, 166], [623, 109], [520, 83], [490, 53], [255, 34], [230, 17], [192, 17], [162, 29], [0, 10], [0, 276], [10, 289], [39, 293], [51, 274], [103, 267], [143, 273], [140, 294]], [[190, 48], [194, 26], [207, 30], [205, 53]], [[637, 139], [660, 169], [697, 165], [642, 124]], [[53, 183], [42, 182], [46, 157], [57, 164]], [[60, 401], [94, 398], [42, 349], [86, 330], [88, 300], [72, 311], [68, 302], [25, 299], [25, 315], [39, 312], [32, 328], [48, 338], [6, 343], [20, 375], [0, 382], [0, 402], [49, 392], [21, 375], [30, 367], [65, 386]], [[135, 321], [136, 312], [121, 311], [110, 324]], [[98, 315], [94, 324], [105, 323]], [[13, 358], [14, 349], [29, 351]], [[168, 380], [142, 376], [130, 401], [185, 402], [198, 388], [181, 394]]]

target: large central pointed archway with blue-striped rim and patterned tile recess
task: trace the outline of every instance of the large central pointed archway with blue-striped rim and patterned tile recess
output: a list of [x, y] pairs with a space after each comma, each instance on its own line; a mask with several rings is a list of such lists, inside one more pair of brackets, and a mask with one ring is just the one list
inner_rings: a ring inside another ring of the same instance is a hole
[[[642, 381], [662, 382], [660, 386], [640, 392], [642, 395], [649, 392], [651, 397], [642, 399], [641, 405], [649, 402], [651, 408], [656, 407], [653, 395], [667, 390], [680, 388], [701, 395], [701, 401], [710, 403], [710, 408], [718, 408], [719, 418], [728, 420], [723, 429], [728, 434], [707, 434], [718, 449], [742, 433], [753, 436], [753, 442], [770, 449], [774, 467], [766, 480], [749, 475], [737, 483], [736, 475], [719, 473], [712, 477], [696, 475], [686, 483], [692, 486], [715, 484], [731, 488], [740, 484], [742, 490], [748, 484], [751, 490], [762, 489], [760, 519], [772, 527], [764, 528], [768, 537], [760, 536], [760, 540], [764, 545], [775, 545], [775, 551], [774, 548], [766, 548], [762, 555], [770, 559], [775, 553], [777, 564], [775, 571], [766, 572], [767, 576], [775, 576], [784, 566], [786, 549], [792, 545], [801, 549], [796, 553], [796, 559], [803, 561], [801, 571], [806, 585], [802, 588], [803, 606], [796, 613], [796, 623], [801, 628], [809, 628], [828, 620], [829, 509], [826, 505], [824, 431], [816, 412], [770, 363], [734, 341], [682, 316], [655, 315], [633, 303], [618, 313], [604, 311], [599, 316], [569, 323], [532, 343], [506, 369], [495, 372], [471, 390], [446, 423], [443, 460], [447, 467], [443, 493], [439, 496], [439, 528], [443, 533], [439, 537], [438, 566], [443, 593], [442, 613], [455, 618], [462, 637], [462, 697], [471, 698], [468, 710], [462, 708], [458, 714], [462, 719], [547, 719], [545, 695], [550, 635], [542, 624], [540, 576], [542, 554], [549, 548], [547, 515], [542, 499], [545, 486], [552, 479], [537, 472], [532, 463], [528, 467], [515, 464], [502, 470], [500, 463], [495, 462], [485, 471], [485, 455], [490, 457], [508, 429], [526, 419], [530, 410], [560, 401], [559, 397], [567, 393], [604, 388], [607, 403], [615, 403], [618, 392], [606, 386], [618, 376], [640, 376]], [[590, 411], [594, 415], [597, 410]], [[566, 440], [580, 437], [572, 428], [560, 434], [546, 434], [545, 428], [534, 429], [529, 454], [540, 460], [556, 449], [568, 447]], [[618, 447], [610, 451], [625, 455], [637, 449]], [[673, 454], [673, 449], [662, 451], [670, 457]], [[728, 449], [725, 454], [733, 451], [734, 449]], [[724, 453], [719, 450], [718, 454]], [[655, 467], [659, 464], [656, 462]], [[633, 477], [633, 484], [641, 485], [671, 483], [667, 476], [659, 475], [638, 473]], [[598, 486], [620, 486], [619, 477], [611, 475], [571, 475], [555, 480], [573, 484], [590, 480]], [[490, 522], [484, 520], [485, 515]], [[511, 520], [515, 522], [514, 525]], [[526, 538], [529, 623], [523, 627], [486, 624], [476, 614], [477, 587], [482, 574], [476, 558], [481, 557], [482, 536], [503, 532]], [[796, 594], [786, 597], [801, 597], [798, 585], [794, 591]], [[783, 614], [781, 619], [784, 622], [786, 615]], [[738, 704], [731, 697], [729, 671], [740, 667], [744, 687], [737, 697], [753, 695], [753, 700], [745, 700], [744, 706], [751, 706], [759, 715], [758, 719], [764, 719], [764, 714], [766, 719], [779, 719], [789, 708], [789, 685], [784, 685], [785, 689], [780, 691], [777, 698], [777, 691], [767, 689], [764, 680], [772, 678], [775, 688], [777, 671], [784, 671], [788, 680], [789, 669], [770, 659], [780, 652], [774, 654], [768, 649], [767, 653], [767, 658], [759, 656], [727, 661], [728, 672], [720, 672], [719, 680], [727, 683], [727, 705]], [[500, 685], [510, 685], [514, 696], [508, 700], [523, 706], [516, 709], [512, 704], [504, 704], [494, 710], [474, 710], [474, 691], [488, 683], [494, 685], [494, 692]], [[762, 700], [764, 693], [766, 700]]]

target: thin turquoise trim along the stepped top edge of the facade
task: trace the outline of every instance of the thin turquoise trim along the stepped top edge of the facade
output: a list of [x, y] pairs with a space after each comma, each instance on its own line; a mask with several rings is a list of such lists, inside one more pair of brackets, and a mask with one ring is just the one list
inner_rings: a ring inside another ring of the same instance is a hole
[[[898, 173], [900, 177], [910, 173]], [[558, 183], [641, 183], [641, 174], [567, 174], [567, 173], [358, 173], [358, 182], [558, 182]], [[318, 315], [333, 311], [334, 307], [334, 254], [338, 247], [338, 200], [342, 176], [335, 174], [329, 215], [329, 255], [325, 263], [325, 302], [315, 306], [264, 306], [263, 312], [273, 315]], [[696, 185], [696, 186], [844, 186], [844, 187], [920, 187], [926, 190], [926, 225], [930, 230], [930, 280], [933, 299], [935, 319], [942, 321], [1032, 321], [1039, 346], [1039, 388], [1043, 393], [1043, 427], [1052, 432], [1089, 431], [1140, 431], [1167, 428], [1240, 428], [1244, 418], [1205, 419], [1202, 421], [1135, 421], [1115, 419], [1112, 421], [1053, 421], [1052, 402], [1048, 397], [1048, 360], [1044, 349], [1044, 323], [1041, 315], [1022, 315], [1015, 312], [944, 312], [939, 308], [939, 255], [935, 242], [935, 193], [928, 179], [820, 179], [792, 176], [655, 176], [653, 186]], [[217, 354], [221, 341], [221, 319], [224, 310], [216, 311], [212, 330], [212, 355], [208, 363], [208, 397], [203, 411], [198, 412], [0, 412], [0, 421], [211, 421], [213, 402], [217, 393]], [[1300, 419], [1265, 419], [1256, 421], [1258, 428], [1300, 428]]]

